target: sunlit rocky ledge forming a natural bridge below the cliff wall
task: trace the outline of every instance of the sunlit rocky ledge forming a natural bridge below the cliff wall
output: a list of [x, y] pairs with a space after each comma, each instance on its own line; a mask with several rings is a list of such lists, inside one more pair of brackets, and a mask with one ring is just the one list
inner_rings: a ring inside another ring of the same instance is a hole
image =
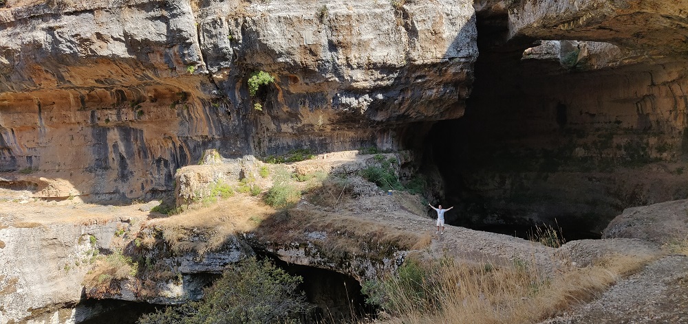
[[[329, 156], [288, 167], [293, 174], [304, 169], [354, 174], [375, 161], [374, 155]], [[179, 173], [212, 179], [213, 172], [199, 167]], [[224, 167], [217, 173], [225, 176], [221, 181], [237, 183], [230, 179], [237, 172], [226, 172], [235, 170], [232, 165]], [[554, 248], [507, 235], [449, 226], [444, 237], [433, 236], [434, 220], [424, 215], [418, 196], [387, 196], [376, 185], [350, 177], [350, 191], [334, 205], [325, 203], [330, 193], [322, 187], [310, 189], [287, 211], [248, 194], [175, 216], [150, 211], [157, 202], [121, 207], [76, 199], [5, 202], [0, 205], [0, 321], [79, 323], [122, 307], [113, 300], [171, 304], [198, 299], [202, 287], [226, 266], [256, 253], [292, 266], [334, 270], [356, 284], [394, 271], [409, 253], [496, 265], [519, 258], [546, 273], [566, 266], [554, 257]], [[212, 183], [187, 189], [202, 194], [201, 188]], [[329, 279], [305, 278], [315, 300], [332, 298], [331, 289], [321, 286]], [[343, 299], [344, 314], [349, 302]]]

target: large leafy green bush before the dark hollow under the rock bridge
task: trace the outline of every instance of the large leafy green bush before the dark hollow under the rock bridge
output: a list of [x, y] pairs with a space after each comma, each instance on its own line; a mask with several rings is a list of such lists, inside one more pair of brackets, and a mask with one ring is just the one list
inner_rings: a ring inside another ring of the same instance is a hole
[[297, 292], [302, 281], [267, 260], [246, 259], [207, 288], [202, 301], [144, 314], [138, 323], [286, 323], [309, 308]]

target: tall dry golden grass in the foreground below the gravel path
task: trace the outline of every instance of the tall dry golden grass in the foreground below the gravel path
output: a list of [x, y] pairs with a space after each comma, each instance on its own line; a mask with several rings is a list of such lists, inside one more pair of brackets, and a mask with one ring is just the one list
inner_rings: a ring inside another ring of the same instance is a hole
[[519, 262], [501, 267], [431, 262], [422, 284], [427, 297], [419, 301], [416, 292], [392, 285], [400, 311], [385, 323], [537, 323], [599, 296], [654, 258], [616, 255], [551, 277]]

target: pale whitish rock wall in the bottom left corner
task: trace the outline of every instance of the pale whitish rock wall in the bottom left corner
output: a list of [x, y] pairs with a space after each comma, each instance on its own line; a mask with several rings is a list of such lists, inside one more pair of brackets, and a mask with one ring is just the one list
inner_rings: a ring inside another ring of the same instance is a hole
[[77, 312], [76, 304], [90, 260], [131, 220], [45, 224], [0, 214], [0, 222], [0, 322], [74, 323], [89, 317], [83, 309]]

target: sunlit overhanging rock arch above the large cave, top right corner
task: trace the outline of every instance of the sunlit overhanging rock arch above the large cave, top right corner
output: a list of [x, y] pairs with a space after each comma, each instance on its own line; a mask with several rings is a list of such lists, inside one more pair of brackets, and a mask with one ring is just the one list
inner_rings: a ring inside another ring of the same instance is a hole
[[648, 52], [685, 52], [688, 5], [681, 1], [513, 1], [512, 38], [596, 40]]

